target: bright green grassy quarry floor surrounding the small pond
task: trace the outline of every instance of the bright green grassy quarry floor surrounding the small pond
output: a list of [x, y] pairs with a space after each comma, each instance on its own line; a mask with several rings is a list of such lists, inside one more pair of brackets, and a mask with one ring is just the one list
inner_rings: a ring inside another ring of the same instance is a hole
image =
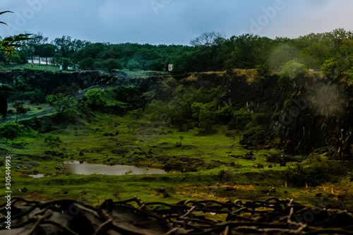
[[[267, 162], [279, 155], [275, 149], [245, 149], [239, 145], [241, 132], [217, 126], [213, 135], [198, 135], [198, 129], [177, 128], [146, 120], [109, 114], [91, 114], [62, 124], [50, 134], [63, 140], [53, 154], [44, 144], [47, 133], [26, 130], [15, 145], [1, 140], [1, 161], [11, 156], [13, 196], [33, 200], [73, 198], [97, 205], [105, 198], [124, 200], [138, 195], [145, 201], [176, 203], [179, 200], [264, 200], [294, 198], [306, 205], [324, 205], [352, 210], [350, 176], [320, 186], [287, 184], [286, 167]], [[55, 123], [55, 117], [47, 117]], [[182, 138], [181, 138], [182, 136]], [[177, 143], [181, 146], [177, 146]], [[245, 157], [244, 157], [245, 156]], [[305, 160], [303, 156], [291, 156]], [[78, 175], [63, 169], [65, 160], [98, 164], [131, 164], [165, 168], [167, 174], [106, 176]], [[288, 162], [287, 166], [294, 166]], [[24, 167], [30, 165], [30, 167]], [[5, 166], [1, 167], [0, 195], [5, 194]], [[184, 172], [184, 173], [182, 173]], [[44, 174], [32, 178], [30, 174]], [[24, 190], [25, 188], [25, 190]], [[321, 194], [320, 194], [321, 193]]]

